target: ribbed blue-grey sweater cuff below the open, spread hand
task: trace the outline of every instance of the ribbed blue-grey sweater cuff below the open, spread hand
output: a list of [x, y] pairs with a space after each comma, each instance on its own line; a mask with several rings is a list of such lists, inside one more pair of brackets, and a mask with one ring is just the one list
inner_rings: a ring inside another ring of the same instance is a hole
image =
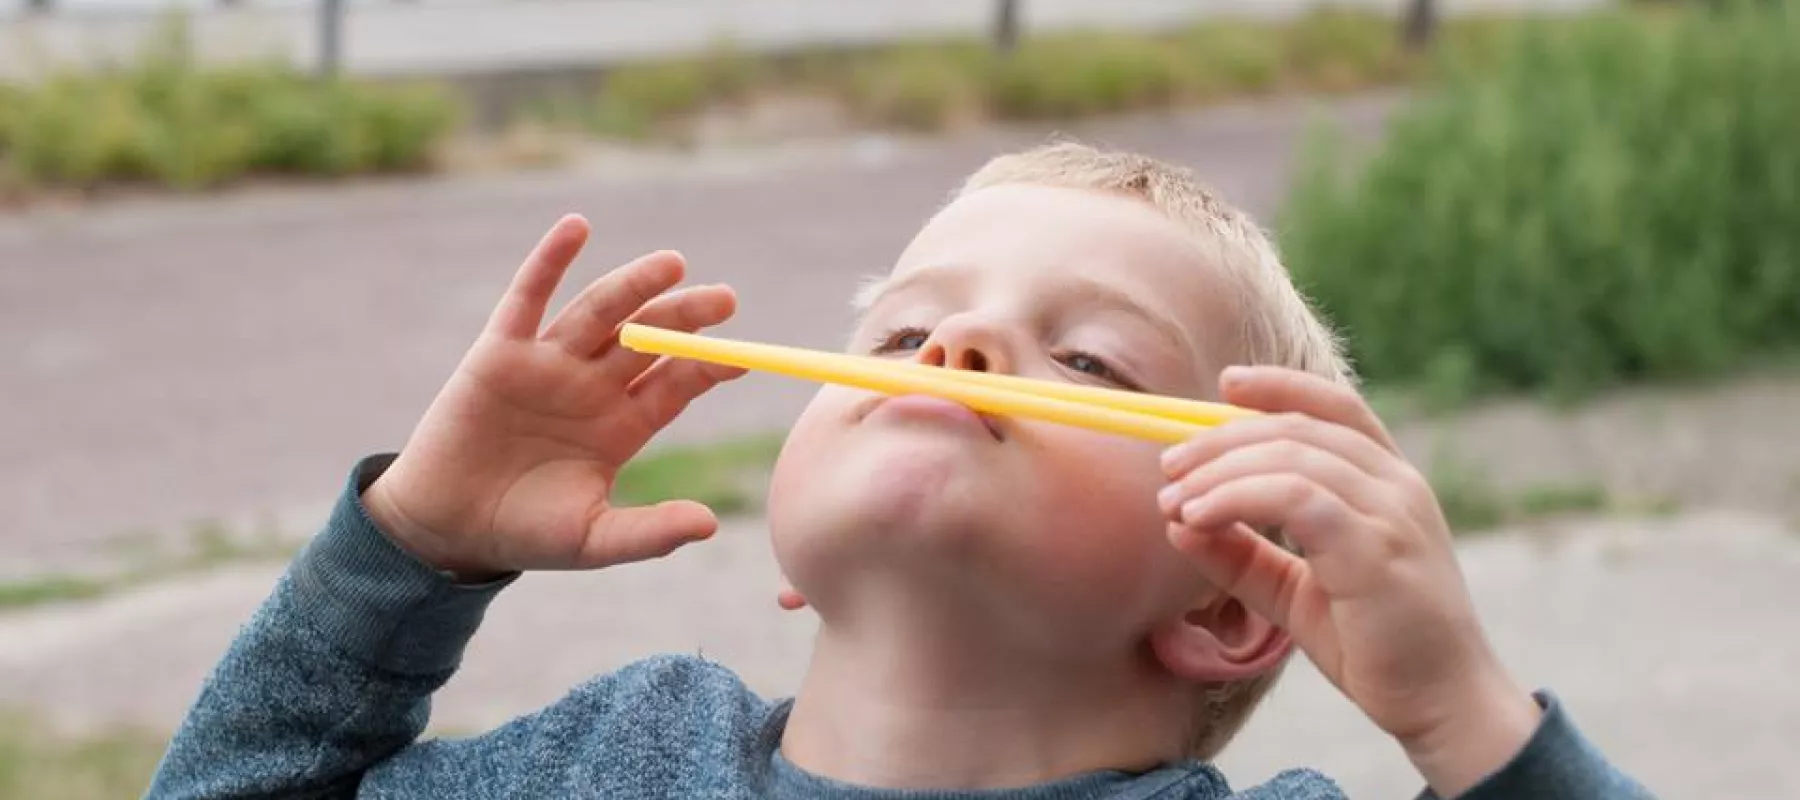
[[394, 544], [362, 505], [392, 461], [369, 456], [351, 470], [329, 523], [295, 559], [295, 602], [351, 658], [400, 674], [454, 670], [488, 604], [518, 573], [455, 584]]

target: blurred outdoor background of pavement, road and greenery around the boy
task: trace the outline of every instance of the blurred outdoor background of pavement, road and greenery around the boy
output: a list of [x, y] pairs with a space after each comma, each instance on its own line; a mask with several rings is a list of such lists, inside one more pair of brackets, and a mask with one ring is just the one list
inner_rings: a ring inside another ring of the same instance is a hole
[[[722, 335], [837, 348], [963, 175], [1055, 133], [1276, 234], [1521, 681], [1663, 796], [1800, 796], [1796, 2], [4, 2], [0, 796], [142, 793], [558, 214], [596, 227], [571, 286], [680, 249], [740, 292]], [[792, 692], [760, 503], [810, 393], [695, 404], [617, 494], [725, 532], [509, 589], [434, 732], [652, 652]], [[1417, 791], [1303, 661], [1222, 762]]]

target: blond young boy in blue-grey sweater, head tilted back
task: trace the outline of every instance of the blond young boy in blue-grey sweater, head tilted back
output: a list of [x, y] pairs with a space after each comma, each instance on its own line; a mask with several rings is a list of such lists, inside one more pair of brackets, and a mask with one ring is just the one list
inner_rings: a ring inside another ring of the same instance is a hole
[[733, 294], [673, 290], [682, 259], [657, 252], [544, 324], [587, 231], [549, 231], [401, 452], [356, 465], [151, 796], [1339, 796], [1305, 769], [1233, 795], [1210, 766], [1294, 647], [1426, 796], [1647, 796], [1501, 667], [1429, 486], [1256, 227], [1181, 169], [1078, 144], [977, 171], [859, 295], [850, 350], [1267, 414], [1165, 450], [823, 387], [769, 492], [781, 602], [819, 614], [792, 701], [650, 658], [486, 735], [416, 741], [520, 571], [716, 528], [607, 492], [736, 373], [616, 330], [709, 328]]

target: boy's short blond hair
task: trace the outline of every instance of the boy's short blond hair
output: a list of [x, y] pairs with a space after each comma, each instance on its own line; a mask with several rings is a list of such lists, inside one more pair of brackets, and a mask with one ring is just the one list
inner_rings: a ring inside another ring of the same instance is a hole
[[[1062, 141], [986, 162], [952, 198], [1001, 184], [1107, 191], [1150, 204], [1193, 231], [1199, 245], [1217, 256], [1228, 285], [1238, 292], [1240, 362], [1355, 382], [1341, 341], [1300, 294], [1269, 238], [1249, 214], [1215, 196], [1192, 171], [1147, 155]], [[1289, 546], [1280, 535], [1274, 539]], [[1183, 755], [1219, 755], [1274, 686], [1283, 665], [1242, 681], [1201, 685]]]

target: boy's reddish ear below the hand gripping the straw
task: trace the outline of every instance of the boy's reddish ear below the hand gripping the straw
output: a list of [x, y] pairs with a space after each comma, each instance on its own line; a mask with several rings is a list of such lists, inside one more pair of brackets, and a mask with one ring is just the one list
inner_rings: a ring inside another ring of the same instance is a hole
[[1150, 649], [1175, 677], [1229, 683], [1274, 668], [1294, 641], [1231, 595], [1213, 589], [1150, 631]]

